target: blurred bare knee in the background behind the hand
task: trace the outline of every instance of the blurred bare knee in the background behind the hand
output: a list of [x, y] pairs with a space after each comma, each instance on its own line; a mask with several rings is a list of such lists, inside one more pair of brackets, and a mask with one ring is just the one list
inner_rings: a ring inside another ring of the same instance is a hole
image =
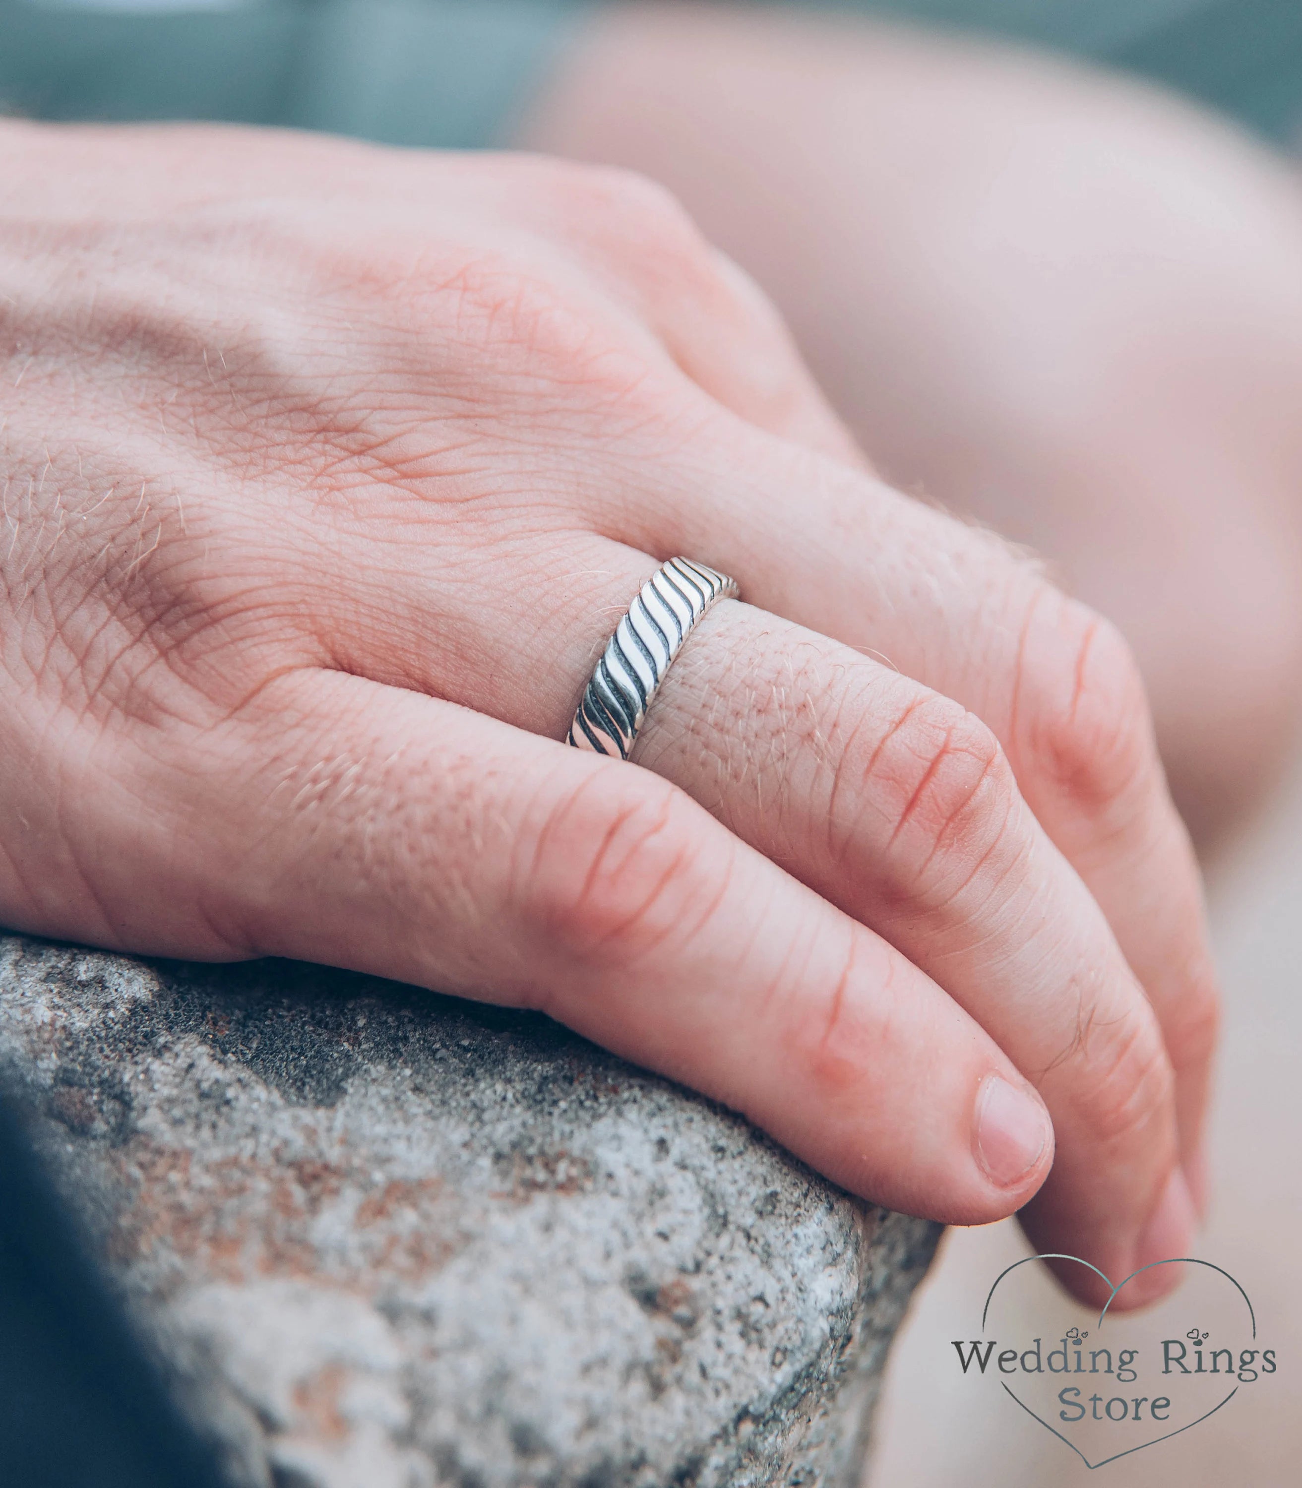
[[1290, 162], [1030, 51], [690, 4], [603, 7], [518, 137], [667, 185], [893, 482], [1120, 626], [1205, 853], [1268, 798], [1302, 674]]

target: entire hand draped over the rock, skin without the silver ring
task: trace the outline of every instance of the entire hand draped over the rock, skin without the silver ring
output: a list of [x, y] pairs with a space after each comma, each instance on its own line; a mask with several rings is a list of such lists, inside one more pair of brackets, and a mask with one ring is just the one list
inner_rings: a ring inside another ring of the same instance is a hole
[[[882, 1204], [1183, 1253], [1216, 997], [1126, 649], [873, 479], [665, 196], [0, 138], [0, 918], [540, 1007]], [[647, 768], [565, 747], [674, 554], [747, 603]]]

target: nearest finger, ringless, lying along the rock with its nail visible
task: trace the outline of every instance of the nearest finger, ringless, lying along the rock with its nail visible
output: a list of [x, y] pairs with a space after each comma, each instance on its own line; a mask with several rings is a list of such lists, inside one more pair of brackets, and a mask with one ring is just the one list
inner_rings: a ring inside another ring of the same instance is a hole
[[132, 853], [232, 951], [543, 1009], [905, 1210], [990, 1220], [1048, 1170], [1043, 1107], [990, 1037], [649, 771], [317, 670], [176, 763], [141, 778], [210, 823], [205, 870], [192, 839], [167, 860], [174, 835]]

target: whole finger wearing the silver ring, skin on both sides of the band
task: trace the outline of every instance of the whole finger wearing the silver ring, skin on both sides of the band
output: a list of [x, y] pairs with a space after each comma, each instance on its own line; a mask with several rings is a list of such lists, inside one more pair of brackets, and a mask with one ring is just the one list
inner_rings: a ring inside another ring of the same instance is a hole
[[[476, 616], [488, 649], [478, 667], [455, 665], [470, 647], [451, 616], [427, 613], [437, 655], [405, 640], [415, 620], [403, 612], [433, 603], [432, 582], [412, 574], [382, 601], [366, 564], [344, 580], [330, 647], [351, 670], [373, 674], [382, 659], [391, 682], [562, 737], [650, 559], [574, 537], [564, 561], [551, 554], [530, 570], [519, 555], [509, 567], [518, 618], [494, 637]], [[461, 577], [491, 582], [473, 568]], [[545, 625], [525, 623], [540, 615]], [[350, 637], [363, 646], [341, 653]], [[1177, 1164], [1161, 1031], [990, 729], [838, 641], [720, 604], [670, 668], [634, 757], [872, 926], [1039, 1086], [1058, 1134], [1043, 1248], [1116, 1275], [1165, 1259], [1144, 1250]]]

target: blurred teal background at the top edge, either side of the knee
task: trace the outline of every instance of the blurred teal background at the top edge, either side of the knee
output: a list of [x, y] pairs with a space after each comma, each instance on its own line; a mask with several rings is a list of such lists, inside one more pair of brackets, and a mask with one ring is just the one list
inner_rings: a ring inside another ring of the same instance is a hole
[[[598, 0], [0, 0], [0, 107], [231, 119], [475, 147]], [[753, 0], [775, 4], [783, 0]], [[786, 0], [975, 30], [1171, 83], [1292, 141], [1296, 0]]]

